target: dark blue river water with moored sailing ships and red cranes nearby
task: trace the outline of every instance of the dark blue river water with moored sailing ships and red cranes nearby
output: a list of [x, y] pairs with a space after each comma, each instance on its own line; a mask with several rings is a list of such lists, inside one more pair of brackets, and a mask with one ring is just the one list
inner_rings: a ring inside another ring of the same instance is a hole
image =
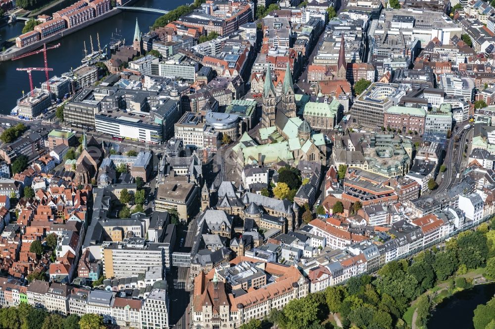
[[[50, 13], [66, 7], [75, 0], [66, 0], [63, 3], [49, 9]], [[137, 7], [148, 7], [170, 10], [182, 4], [192, 2], [191, 0], [138, 0], [134, 4]], [[101, 46], [109, 43], [112, 32], [118, 31], [126, 39], [127, 44], [132, 44], [136, 18], [138, 19], [141, 32], [146, 33], [149, 27], [161, 14], [152, 12], [125, 11], [101, 22], [95, 23], [85, 29], [77, 31], [67, 37], [63, 37], [51, 44], [60, 42], [60, 47], [48, 51], [48, 67], [52, 68], [50, 76], [60, 75], [81, 65], [84, 56], [84, 44], [90, 51], [90, 35], [93, 37], [93, 44], [97, 47], [97, 33]], [[2, 40], [8, 40], [21, 34], [24, 22], [7, 25], [0, 28]], [[26, 72], [16, 71], [18, 67], [44, 67], [43, 54], [33, 55], [16, 61], [0, 63], [0, 113], [10, 114], [10, 110], [15, 106], [16, 100], [22, 96], [22, 91], [29, 91], [29, 79]], [[34, 71], [33, 84], [40, 86], [46, 80], [44, 71]]]

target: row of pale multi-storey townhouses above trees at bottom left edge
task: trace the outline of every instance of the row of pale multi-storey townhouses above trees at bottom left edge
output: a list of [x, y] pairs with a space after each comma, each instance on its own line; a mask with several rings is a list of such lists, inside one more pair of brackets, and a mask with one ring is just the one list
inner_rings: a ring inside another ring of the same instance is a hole
[[166, 283], [145, 289], [139, 299], [118, 297], [114, 291], [87, 290], [33, 281], [29, 286], [16, 280], [0, 280], [0, 305], [21, 302], [61, 315], [99, 314], [105, 324], [132, 328], [168, 328], [169, 296]]

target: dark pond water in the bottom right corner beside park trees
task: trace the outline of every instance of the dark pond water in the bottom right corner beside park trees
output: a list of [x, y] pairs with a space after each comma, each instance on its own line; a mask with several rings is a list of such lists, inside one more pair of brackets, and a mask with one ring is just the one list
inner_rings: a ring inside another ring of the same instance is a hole
[[472, 329], [474, 310], [494, 297], [495, 284], [478, 285], [457, 292], [437, 305], [428, 328]]

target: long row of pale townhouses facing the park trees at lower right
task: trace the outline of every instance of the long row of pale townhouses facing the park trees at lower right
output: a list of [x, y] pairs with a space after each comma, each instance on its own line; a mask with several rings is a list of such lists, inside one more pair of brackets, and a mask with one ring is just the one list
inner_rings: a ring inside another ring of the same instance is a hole
[[459, 222], [456, 216], [461, 216], [460, 222], [464, 223], [462, 211], [453, 208], [412, 221], [399, 220], [386, 234], [378, 233], [381, 244], [362, 236], [364, 240], [356, 242], [348, 238], [345, 246], [338, 248], [335, 248], [335, 239], [341, 239], [341, 231], [347, 231], [315, 219], [308, 224], [309, 232], [324, 237], [325, 248], [310, 259], [302, 259], [299, 268], [309, 279], [309, 291], [321, 291], [438, 243], [454, 232], [454, 223]]

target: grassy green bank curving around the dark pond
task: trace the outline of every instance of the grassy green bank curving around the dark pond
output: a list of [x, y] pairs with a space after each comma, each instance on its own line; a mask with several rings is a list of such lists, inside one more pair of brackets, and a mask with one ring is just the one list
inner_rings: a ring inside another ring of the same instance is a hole
[[[435, 310], [435, 307], [437, 305], [440, 305], [447, 298], [451, 298], [459, 292], [472, 289], [472, 288], [479, 286], [479, 285], [493, 284], [494, 281], [489, 281], [483, 276], [484, 272], [485, 272], [485, 268], [480, 267], [480, 268], [477, 268], [476, 270], [469, 271], [466, 274], [453, 276], [453, 277], [449, 278], [448, 280], [443, 281], [443, 282], [437, 284], [435, 287], [430, 288], [430, 289], [428, 289], [428, 291], [424, 292], [421, 296], [428, 295], [430, 298], [433, 297], [431, 300], [430, 316], [432, 315], [432, 311]], [[468, 288], [455, 287], [455, 285], [452, 285], [452, 283], [458, 278], [464, 278], [467, 281], [472, 281], [472, 286], [468, 287]], [[407, 311], [403, 315], [403, 319], [406, 322], [407, 326], [409, 328], [412, 328], [412, 329], [425, 329], [426, 328], [426, 327], [418, 327], [416, 324], [416, 322], [417, 322], [417, 302], [421, 298], [421, 296], [416, 298], [411, 303], [411, 306], [409, 306], [409, 308], [407, 309]]]

